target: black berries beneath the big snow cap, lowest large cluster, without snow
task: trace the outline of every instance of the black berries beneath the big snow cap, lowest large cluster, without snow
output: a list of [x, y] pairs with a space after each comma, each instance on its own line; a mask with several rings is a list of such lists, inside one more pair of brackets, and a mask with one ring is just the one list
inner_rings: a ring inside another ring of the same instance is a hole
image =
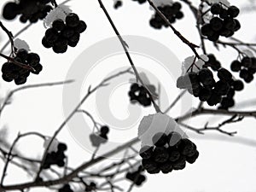
[[150, 174], [183, 170], [186, 161], [195, 163], [199, 156], [195, 143], [187, 138], [182, 138], [177, 132], [156, 133], [152, 138], [154, 146], [143, 146], [140, 156], [143, 158], [143, 168]]

